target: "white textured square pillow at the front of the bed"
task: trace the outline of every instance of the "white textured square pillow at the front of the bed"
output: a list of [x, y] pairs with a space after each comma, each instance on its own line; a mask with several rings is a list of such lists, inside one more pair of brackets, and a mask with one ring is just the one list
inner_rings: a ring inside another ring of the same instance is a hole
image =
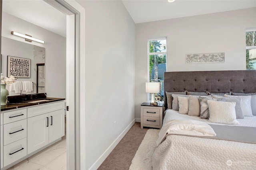
[[236, 120], [236, 102], [207, 101], [209, 107], [209, 121], [224, 124], [239, 124]]

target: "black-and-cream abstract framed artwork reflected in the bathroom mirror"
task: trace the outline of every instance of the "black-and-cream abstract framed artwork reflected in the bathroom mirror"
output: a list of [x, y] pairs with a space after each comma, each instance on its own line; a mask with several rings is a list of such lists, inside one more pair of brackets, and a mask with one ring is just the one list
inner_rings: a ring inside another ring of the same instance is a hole
[[30, 78], [30, 59], [7, 56], [7, 76]]

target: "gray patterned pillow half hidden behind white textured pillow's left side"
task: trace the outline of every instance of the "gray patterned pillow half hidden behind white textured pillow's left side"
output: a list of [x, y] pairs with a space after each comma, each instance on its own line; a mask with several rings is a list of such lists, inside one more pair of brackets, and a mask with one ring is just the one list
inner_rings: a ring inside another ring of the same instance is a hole
[[216, 98], [211, 98], [211, 97], [201, 97], [199, 96], [200, 100], [200, 118], [202, 119], [209, 119], [210, 113], [209, 113], [209, 107], [207, 104], [208, 100], [211, 101], [222, 101], [225, 102], [226, 100], [224, 98], [216, 99]]

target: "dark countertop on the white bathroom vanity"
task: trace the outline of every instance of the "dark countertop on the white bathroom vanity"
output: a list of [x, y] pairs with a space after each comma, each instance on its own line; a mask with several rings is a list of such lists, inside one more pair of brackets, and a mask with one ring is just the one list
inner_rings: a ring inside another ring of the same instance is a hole
[[[37, 103], [28, 103], [28, 102], [33, 102], [36, 100], [48, 100], [48, 101], [37, 102]], [[65, 100], [65, 99], [64, 98], [40, 98], [40, 99], [36, 99], [36, 100], [29, 100], [26, 102], [18, 102], [18, 103], [13, 103], [13, 104], [9, 103], [4, 106], [1, 106], [1, 111], [18, 109], [18, 108], [28, 107], [28, 106], [35, 106], [35, 105], [46, 104], [46, 103], [51, 103], [51, 102], [58, 102], [58, 101]]]

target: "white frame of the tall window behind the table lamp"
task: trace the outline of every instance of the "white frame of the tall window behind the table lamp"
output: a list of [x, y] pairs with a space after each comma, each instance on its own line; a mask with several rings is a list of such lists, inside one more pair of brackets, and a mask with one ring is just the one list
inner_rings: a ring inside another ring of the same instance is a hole
[[[160, 41], [160, 40], [166, 40], [166, 51], [165, 52], [155, 52], [155, 53], [150, 53], [149, 52], [149, 42], [150, 41]], [[147, 77], [148, 77], [148, 82], [150, 82], [150, 76], [149, 76], [149, 73], [150, 73], [150, 70], [149, 70], [149, 56], [150, 55], [166, 55], [166, 72], [167, 72], [167, 62], [168, 62], [168, 59], [167, 59], [167, 56], [168, 56], [168, 45], [167, 45], [167, 36], [166, 37], [159, 37], [159, 38], [152, 38], [152, 39], [148, 39], [148, 42], [147, 42]], [[164, 83], [164, 82], [163, 82]], [[161, 82], [160, 82], [160, 85], [161, 85]], [[162, 90], [162, 85], [161, 85], [161, 89]], [[160, 91], [161, 92], [161, 91]], [[150, 94], [148, 93], [148, 102], [150, 102]], [[163, 102], [161, 102], [163, 103]]]

